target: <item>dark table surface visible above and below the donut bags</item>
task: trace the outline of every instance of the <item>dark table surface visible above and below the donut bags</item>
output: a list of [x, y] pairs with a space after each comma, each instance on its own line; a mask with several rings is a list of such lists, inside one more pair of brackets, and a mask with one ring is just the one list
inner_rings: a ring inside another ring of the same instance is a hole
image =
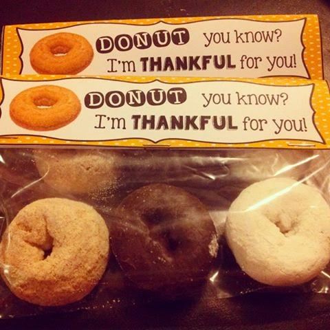
[[[330, 79], [328, 0], [1, 0], [0, 25], [97, 19], [240, 14], [318, 14], [325, 78]], [[179, 315], [179, 317], [178, 317]], [[0, 329], [330, 329], [330, 295], [245, 294], [206, 303], [142, 306], [124, 313], [74, 311], [0, 320]]]

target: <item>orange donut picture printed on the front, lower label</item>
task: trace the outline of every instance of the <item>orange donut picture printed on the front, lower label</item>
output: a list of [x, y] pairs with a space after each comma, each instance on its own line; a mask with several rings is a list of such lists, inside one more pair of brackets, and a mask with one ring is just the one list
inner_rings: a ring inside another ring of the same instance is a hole
[[52, 131], [74, 121], [81, 105], [73, 91], [43, 85], [21, 91], [10, 102], [12, 121], [33, 131]]

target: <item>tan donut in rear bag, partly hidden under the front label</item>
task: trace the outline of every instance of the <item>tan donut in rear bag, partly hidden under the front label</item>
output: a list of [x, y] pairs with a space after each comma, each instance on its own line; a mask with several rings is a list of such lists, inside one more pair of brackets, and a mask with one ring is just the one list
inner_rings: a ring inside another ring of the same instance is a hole
[[62, 194], [86, 195], [115, 188], [120, 155], [104, 149], [34, 149], [45, 183]]

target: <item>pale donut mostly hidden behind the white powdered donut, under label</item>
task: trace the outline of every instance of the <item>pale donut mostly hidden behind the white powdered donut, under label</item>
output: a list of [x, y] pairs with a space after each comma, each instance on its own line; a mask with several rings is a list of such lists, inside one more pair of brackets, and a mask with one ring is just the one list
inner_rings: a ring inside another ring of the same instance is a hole
[[252, 184], [271, 177], [300, 179], [312, 159], [313, 151], [242, 149], [228, 151], [224, 162], [230, 181]]

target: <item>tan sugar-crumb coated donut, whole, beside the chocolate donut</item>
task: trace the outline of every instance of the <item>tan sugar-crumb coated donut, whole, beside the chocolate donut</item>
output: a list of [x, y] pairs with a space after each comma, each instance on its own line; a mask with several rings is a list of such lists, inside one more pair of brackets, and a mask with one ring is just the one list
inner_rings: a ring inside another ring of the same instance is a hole
[[39, 199], [12, 220], [0, 243], [1, 276], [29, 303], [74, 303], [93, 289], [106, 268], [109, 232], [85, 203]]

